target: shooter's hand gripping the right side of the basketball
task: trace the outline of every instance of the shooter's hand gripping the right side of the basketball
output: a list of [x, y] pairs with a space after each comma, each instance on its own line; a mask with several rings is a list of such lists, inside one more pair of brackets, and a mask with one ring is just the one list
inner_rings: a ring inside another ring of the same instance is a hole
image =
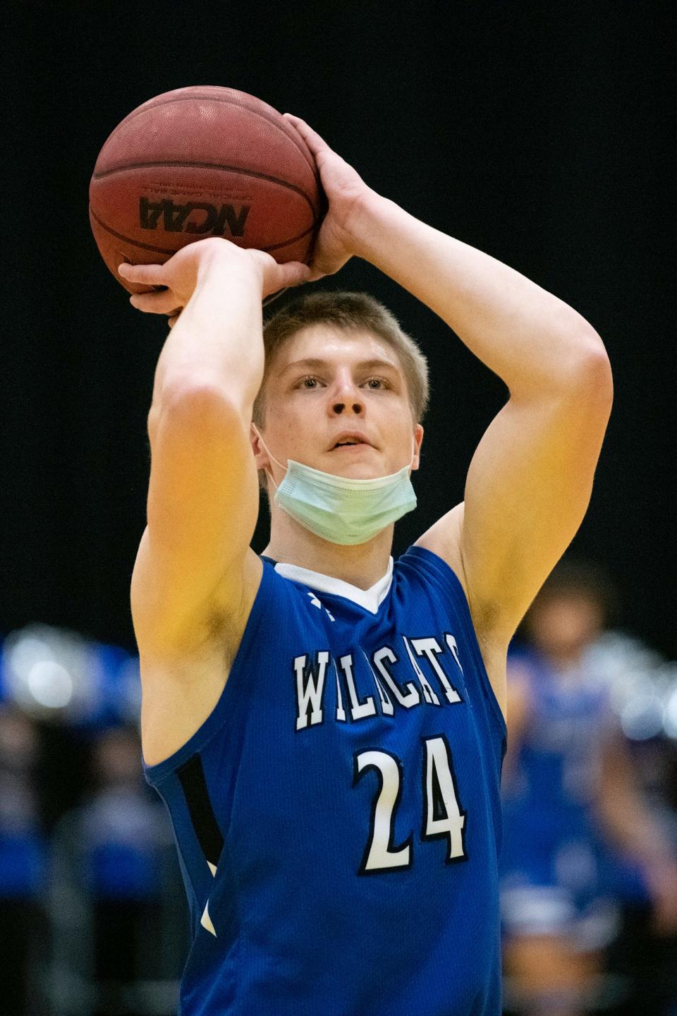
[[284, 114], [315, 156], [320, 179], [329, 200], [329, 210], [320, 228], [311, 262], [311, 281], [333, 275], [355, 253], [353, 225], [362, 202], [374, 192], [358, 173], [329, 147], [303, 120]]

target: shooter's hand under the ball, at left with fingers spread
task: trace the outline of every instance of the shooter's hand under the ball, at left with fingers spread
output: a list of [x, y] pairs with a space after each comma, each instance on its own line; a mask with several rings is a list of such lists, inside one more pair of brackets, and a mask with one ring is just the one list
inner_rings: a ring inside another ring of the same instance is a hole
[[164, 264], [124, 263], [118, 268], [122, 277], [130, 282], [166, 287], [156, 293], [135, 293], [130, 303], [147, 314], [168, 315], [170, 325], [191, 299], [198, 282], [212, 270], [253, 273], [261, 287], [262, 299], [278, 290], [300, 285], [310, 276], [308, 265], [300, 261], [278, 264], [264, 251], [238, 247], [220, 237], [188, 244]]

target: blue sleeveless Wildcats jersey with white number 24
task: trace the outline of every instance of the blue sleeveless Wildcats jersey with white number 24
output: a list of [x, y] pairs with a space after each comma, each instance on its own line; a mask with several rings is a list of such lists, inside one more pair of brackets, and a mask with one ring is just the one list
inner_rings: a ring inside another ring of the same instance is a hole
[[223, 693], [145, 767], [192, 915], [182, 1016], [498, 1016], [505, 724], [463, 588], [264, 559]]

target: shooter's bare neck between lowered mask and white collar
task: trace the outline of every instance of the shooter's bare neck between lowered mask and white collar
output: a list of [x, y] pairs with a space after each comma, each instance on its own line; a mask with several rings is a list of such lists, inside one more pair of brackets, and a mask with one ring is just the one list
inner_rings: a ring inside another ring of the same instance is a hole
[[358, 589], [369, 589], [388, 571], [394, 525], [386, 526], [366, 544], [344, 547], [330, 544], [272, 505], [267, 557], [309, 571], [331, 575]]

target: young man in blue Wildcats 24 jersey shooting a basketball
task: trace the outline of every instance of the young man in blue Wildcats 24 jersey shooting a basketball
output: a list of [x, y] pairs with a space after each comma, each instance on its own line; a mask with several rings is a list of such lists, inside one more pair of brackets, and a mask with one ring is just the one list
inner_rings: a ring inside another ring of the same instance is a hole
[[[586, 512], [609, 362], [573, 310], [376, 194], [290, 121], [329, 198], [310, 272], [223, 240], [121, 267], [167, 287], [132, 303], [176, 322], [132, 607], [147, 776], [193, 915], [181, 1011], [495, 1016], [506, 647]], [[343, 297], [331, 313], [301, 303], [296, 330], [283, 313], [264, 361], [262, 297], [352, 255], [511, 393], [464, 503], [394, 566], [393, 522], [415, 504], [420, 355], [378, 305], [351, 319], [359, 298]]]

